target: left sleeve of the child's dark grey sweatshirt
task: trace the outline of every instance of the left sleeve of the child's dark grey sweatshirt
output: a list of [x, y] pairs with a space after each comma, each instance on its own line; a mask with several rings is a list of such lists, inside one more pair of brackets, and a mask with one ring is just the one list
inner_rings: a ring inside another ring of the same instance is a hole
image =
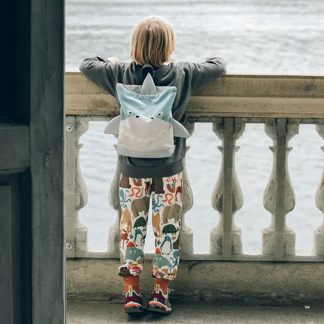
[[90, 81], [115, 97], [116, 84], [123, 73], [125, 63], [111, 63], [107, 58], [95, 56], [85, 59], [79, 70]]

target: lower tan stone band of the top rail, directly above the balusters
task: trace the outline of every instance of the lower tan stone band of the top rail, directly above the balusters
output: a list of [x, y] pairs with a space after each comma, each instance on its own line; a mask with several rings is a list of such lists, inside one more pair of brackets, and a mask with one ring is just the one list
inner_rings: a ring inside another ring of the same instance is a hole
[[[324, 118], [323, 98], [192, 96], [186, 107], [190, 117]], [[66, 94], [67, 115], [116, 116], [115, 98], [106, 94]]]

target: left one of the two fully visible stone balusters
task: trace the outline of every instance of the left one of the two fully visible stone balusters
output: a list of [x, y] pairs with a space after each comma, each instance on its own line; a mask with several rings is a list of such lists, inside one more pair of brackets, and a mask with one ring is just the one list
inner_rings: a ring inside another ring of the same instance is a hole
[[212, 206], [220, 217], [210, 233], [210, 253], [223, 254], [225, 259], [243, 253], [241, 229], [234, 222], [234, 214], [243, 206], [243, 194], [235, 169], [235, 153], [239, 146], [235, 143], [244, 131], [245, 124], [234, 118], [223, 118], [221, 123], [213, 123], [213, 132], [222, 141], [218, 146], [222, 162], [212, 193]]

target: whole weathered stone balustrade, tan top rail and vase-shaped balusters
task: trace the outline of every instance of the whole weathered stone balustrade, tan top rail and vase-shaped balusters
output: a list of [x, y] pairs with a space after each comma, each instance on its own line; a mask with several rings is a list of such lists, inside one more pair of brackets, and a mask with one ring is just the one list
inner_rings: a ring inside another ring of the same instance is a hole
[[[106, 253], [87, 248], [87, 226], [78, 218], [78, 211], [87, 204], [87, 187], [79, 168], [79, 138], [88, 130], [89, 120], [109, 120], [118, 114], [115, 99], [87, 80], [79, 72], [66, 72], [66, 173], [67, 173], [67, 257], [116, 258], [119, 253], [117, 164], [111, 183], [109, 202], [116, 210], [116, 221], [109, 229]], [[210, 254], [193, 254], [192, 230], [185, 223], [185, 213], [192, 207], [192, 191], [184, 173], [182, 235], [180, 250], [187, 260], [263, 260], [324, 261], [324, 222], [314, 230], [311, 256], [295, 255], [295, 232], [286, 224], [286, 215], [295, 207], [295, 194], [289, 176], [288, 143], [298, 134], [299, 124], [315, 124], [324, 139], [324, 75], [225, 75], [197, 92], [189, 100], [186, 128], [190, 135], [194, 123], [210, 121], [222, 141], [222, 165], [212, 193], [212, 206], [220, 214], [217, 226], [211, 229]], [[234, 223], [234, 214], [243, 205], [243, 196], [235, 171], [235, 145], [244, 133], [246, 123], [263, 123], [272, 139], [272, 172], [264, 191], [264, 208], [271, 214], [271, 223], [262, 229], [260, 255], [242, 253], [241, 230]], [[190, 140], [189, 140], [190, 141]], [[187, 147], [189, 149], [189, 147]], [[324, 151], [324, 146], [321, 147]], [[316, 206], [324, 213], [324, 175], [316, 192]], [[185, 240], [185, 242], [184, 242]], [[147, 255], [151, 258], [152, 255]]]

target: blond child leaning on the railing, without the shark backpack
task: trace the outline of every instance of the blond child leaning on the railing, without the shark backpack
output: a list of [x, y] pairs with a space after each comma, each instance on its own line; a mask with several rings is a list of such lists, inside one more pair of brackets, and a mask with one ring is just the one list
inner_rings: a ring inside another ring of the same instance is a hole
[[[177, 93], [172, 116], [183, 123], [189, 97], [214, 82], [226, 72], [226, 62], [217, 57], [203, 63], [175, 63], [175, 33], [163, 19], [143, 19], [131, 38], [130, 63], [116, 57], [85, 59], [80, 71], [100, 88], [116, 97], [116, 84], [142, 85], [147, 73], [155, 86], [173, 86]], [[138, 116], [136, 116], [138, 117]], [[176, 277], [179, 264], [179, 233], [182, 208], [182, 160], [186, 140], [175, 137], [175, 150], [170, 157], [138, 158], [118, 155], [120, 161], [121, 265], [118, 274], [125, 281], [125, 312], [148, 310], [170, 313], [169, 281]], [[148, 304], [140, 292], [139, 274], [144, 264], [144, 241], [149, 201], [152, 199], [152, 224], [155, 235], [155, 257], [152, 275], [153, 293]]]

